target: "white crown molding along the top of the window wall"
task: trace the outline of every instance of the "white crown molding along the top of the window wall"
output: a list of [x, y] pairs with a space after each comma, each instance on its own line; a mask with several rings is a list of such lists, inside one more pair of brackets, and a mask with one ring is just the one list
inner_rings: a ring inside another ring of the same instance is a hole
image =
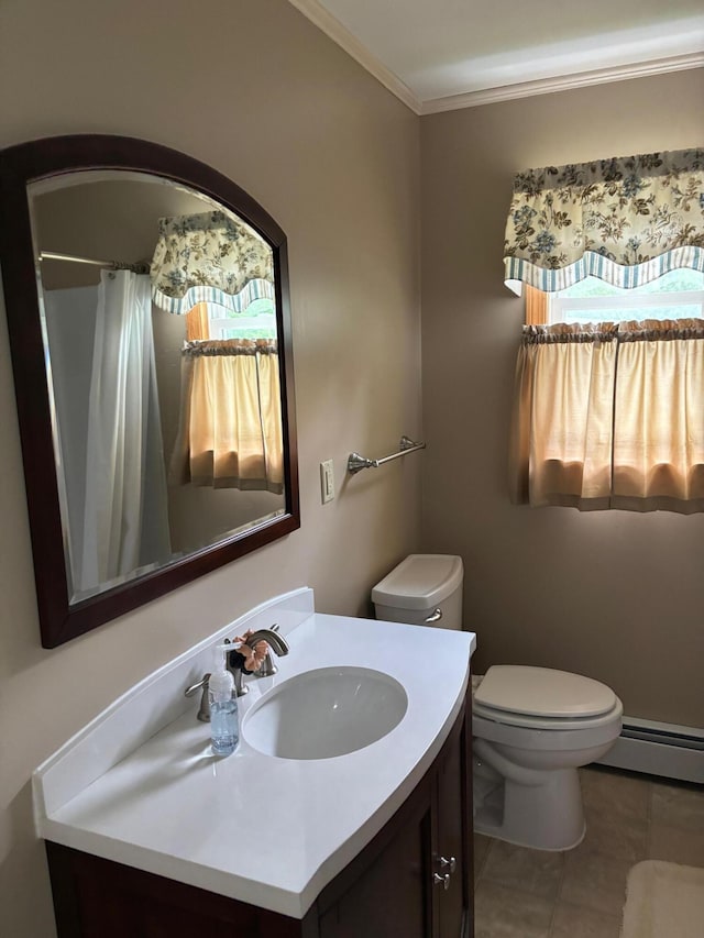
[[519, 81], [499, 88], [483, 88], [464, 95], [449, 95], [424, 101], [421, 114], [435, 114], [440, 111], [455, 111], [461, 108], [476, 108], [481, 104], [495, 104], [499, 101], [515, 101], [536, 95], [549, 95], [553, 91], [571, 91], [575, 88], [588, 88], [592, 85], [605, 85], [609, 81], [626, 81], [629, 78], [646, 78], [651, 75], [664, 75], [668, 71], [683, 71], [704, 66], [704, 52], [689, 55], [675, 55], [667, 58], [638, 62], [631, 65], [618, 65], [597, 68], [593, 71], [579, 71], [574, 75], [560, 75], [554, 78], [538, 78], [534, 81]]

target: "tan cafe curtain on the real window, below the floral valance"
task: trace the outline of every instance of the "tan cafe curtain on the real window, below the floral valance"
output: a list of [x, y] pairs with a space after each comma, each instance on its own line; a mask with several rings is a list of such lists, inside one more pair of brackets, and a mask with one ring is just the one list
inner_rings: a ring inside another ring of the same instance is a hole
[[704, 510], [704, 320], [526, 325], [512, 500]]

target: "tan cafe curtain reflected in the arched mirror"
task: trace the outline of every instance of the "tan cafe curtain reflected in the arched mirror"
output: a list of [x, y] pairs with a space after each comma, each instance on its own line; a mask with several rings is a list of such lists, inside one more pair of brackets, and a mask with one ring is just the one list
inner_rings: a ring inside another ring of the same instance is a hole
[[169, 483], [283, 492], [279, 399], [275, 342], [188, 342]]

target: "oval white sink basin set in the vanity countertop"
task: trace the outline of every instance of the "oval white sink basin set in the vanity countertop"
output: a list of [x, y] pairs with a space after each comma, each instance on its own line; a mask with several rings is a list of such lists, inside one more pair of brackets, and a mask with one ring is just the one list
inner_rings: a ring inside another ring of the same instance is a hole
[[404, 718], [408, 697], [367, 667], [320, 667], [274, 687], [242, 721], [246, 742], [279, 759], [331, 759], [376, 742]]

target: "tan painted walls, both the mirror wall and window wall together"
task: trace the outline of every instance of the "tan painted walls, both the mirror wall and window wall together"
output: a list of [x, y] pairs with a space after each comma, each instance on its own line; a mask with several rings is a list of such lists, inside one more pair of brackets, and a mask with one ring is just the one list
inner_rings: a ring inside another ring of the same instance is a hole
[[[0, 314], [2, 935], [55, 934], [32, 769], [135, 681], [275, 593], [308, 584], [319, 608], [366, 614], [370, 587], [421, 547], [421, 466], [422, 547], [465, 560], [480, 663], [582, 670], [629, 713], [701, 725], [704, 520], [508, 505], [520, 310], [499, 258], [517, 169], [701, 144], [703, 91], [702, 73], [683, 73], [419, 121], [285, 0], [204, 0], [197, 15], [186, 0], [3, 0], [0, 146], [142, 136], [223, 172], [287, 232], [302, 528], [42, 650]], [[381, 455], [422, 432], [419, 124], [430, 445], [344, 481], [352, 450]], [[321, 506], [328, 457], [339, 494]]]

